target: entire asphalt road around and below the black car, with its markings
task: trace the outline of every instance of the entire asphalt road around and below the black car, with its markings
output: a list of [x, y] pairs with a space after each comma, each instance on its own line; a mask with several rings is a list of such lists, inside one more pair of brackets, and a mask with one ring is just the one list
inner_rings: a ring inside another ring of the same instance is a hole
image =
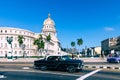
[[1, 63], [0, 80], [120, 80], [119, 70], [84, 69], [78, 73], [68, 73], [40, 71], [33, 69], [32, 65], [32, 63]]

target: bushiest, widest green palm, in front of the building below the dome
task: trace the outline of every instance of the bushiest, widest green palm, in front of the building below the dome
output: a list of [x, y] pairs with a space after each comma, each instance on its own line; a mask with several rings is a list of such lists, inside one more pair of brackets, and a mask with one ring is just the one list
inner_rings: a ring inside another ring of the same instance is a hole
[[[38, 39], [35, 39], [33, 42], [34, 45], [37, 45], [37, 51], [43, 51], [44, 50], [44, 41], [43, 41], [43, 37], [40, 34]], [[42, 52], [41, 52], [42, 54]]]

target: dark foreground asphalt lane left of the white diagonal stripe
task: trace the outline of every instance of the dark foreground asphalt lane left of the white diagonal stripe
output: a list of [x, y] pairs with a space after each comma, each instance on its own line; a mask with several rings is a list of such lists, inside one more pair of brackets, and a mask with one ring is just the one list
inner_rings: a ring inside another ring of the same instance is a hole
[[77, 78], [76, 76], [36, 72], [5, 71], [1, 74], [4, 75], [2, 80], [75, 80]]

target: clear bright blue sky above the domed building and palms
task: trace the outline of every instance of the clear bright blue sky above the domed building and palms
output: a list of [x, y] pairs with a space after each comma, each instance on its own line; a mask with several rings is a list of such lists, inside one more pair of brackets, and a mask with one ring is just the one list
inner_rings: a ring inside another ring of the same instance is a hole
[[120, 0], [0, 0], [0, 26], [41, 32], [48, 13], [63, 47], [83, 39], [81, 48], [120, 36]]

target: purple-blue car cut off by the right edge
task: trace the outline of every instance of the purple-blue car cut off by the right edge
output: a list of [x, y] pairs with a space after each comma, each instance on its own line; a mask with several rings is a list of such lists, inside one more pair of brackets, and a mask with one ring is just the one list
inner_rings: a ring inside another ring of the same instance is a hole
[[110, 54], [107, 58], [107, 62], [109, 63], [120, 63], [120, 55], [119, 54]]

